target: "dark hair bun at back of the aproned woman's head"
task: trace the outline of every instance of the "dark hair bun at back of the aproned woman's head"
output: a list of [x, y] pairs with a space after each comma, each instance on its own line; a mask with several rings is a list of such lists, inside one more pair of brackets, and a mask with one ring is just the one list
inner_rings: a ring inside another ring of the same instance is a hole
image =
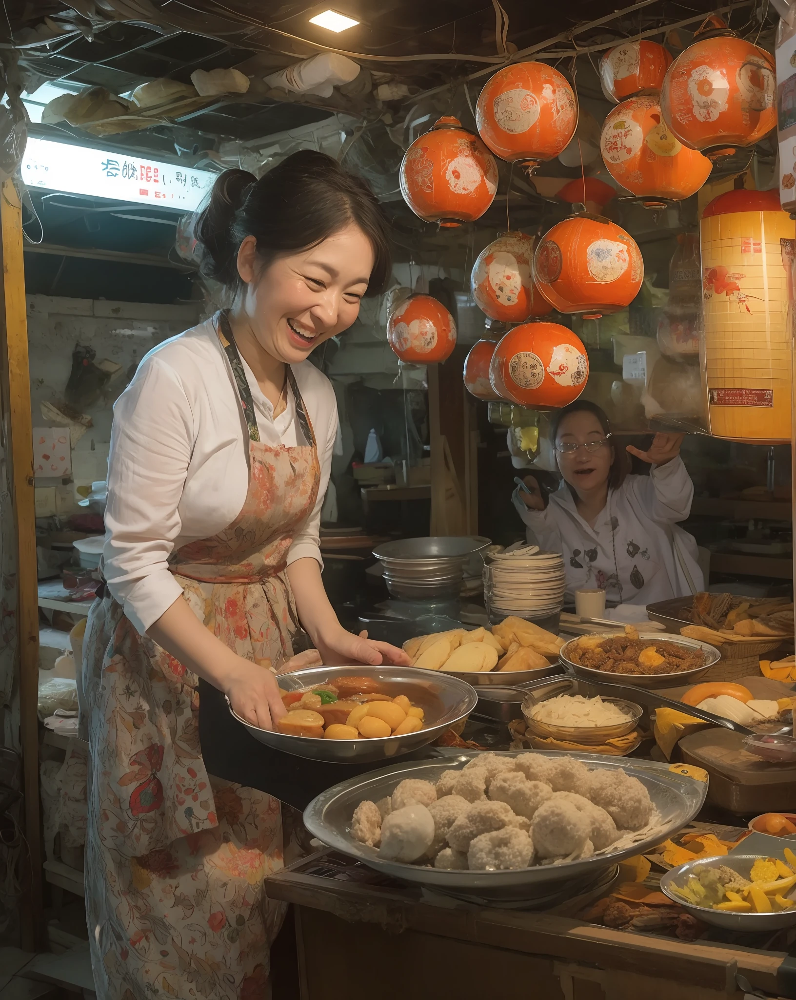
[[194, 235], [202, 245], [200, 271], [225, 285], [238, 279], [238, 245], [235, 219], [253, 185], [254, 174], [248, 170], [225, 170], [213, 185], [210, 201], [200, 215]]

